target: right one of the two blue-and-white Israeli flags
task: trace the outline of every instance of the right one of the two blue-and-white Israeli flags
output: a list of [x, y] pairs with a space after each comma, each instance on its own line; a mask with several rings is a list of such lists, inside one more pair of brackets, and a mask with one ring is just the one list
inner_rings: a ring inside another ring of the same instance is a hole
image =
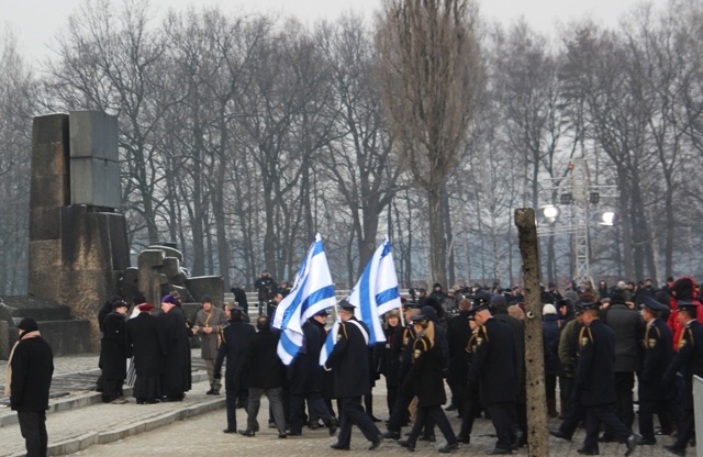
[[357, 306], [356, 319], [369, 327], [369, 344], [384, 342], [386, 336], [379, 316], [401, 305], [398, 276], [388, 236], [373, 253], [348, 301]]

